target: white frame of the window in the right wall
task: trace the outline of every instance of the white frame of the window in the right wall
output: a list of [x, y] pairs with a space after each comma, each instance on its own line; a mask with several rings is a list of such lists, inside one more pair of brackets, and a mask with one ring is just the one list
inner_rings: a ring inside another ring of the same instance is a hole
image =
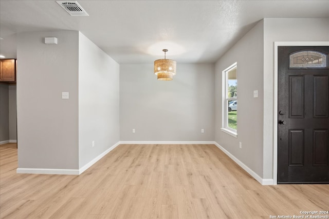
[[[232, 135], [233, 137], [237, 137], [237, 130], [232, 129], [228, 126], [228, 102], [229, 101], [234, 101], [237, 100], [236, 97], [228, 97], [228, 72], [232, 69], [236, 68], [237, 69], [237, 62], [226, 68], [222, 72], [222, 128], [221, 130], [229, 135]], [[236, 71], [237, 75], [237, 71]], [[237, 84], [237, 80], [236, 80]]]

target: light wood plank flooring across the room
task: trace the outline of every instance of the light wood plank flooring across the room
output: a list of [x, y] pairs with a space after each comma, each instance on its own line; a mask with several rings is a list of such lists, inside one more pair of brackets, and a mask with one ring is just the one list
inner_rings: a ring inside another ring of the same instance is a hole
[[0, 156], [1, 218], [270, 218], [329, 210], [329, 185], [262, 186], [214, 145], [119, 145], [79, 176], [16, 174], [15, 144], [0, 146]]

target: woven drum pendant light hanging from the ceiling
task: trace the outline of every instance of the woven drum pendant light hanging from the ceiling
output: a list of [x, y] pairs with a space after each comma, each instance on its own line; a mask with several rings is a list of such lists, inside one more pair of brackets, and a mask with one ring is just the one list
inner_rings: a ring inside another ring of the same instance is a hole
[[162, 49], [165, 52], [165, 59], [158, 59], [154, 61], [154, 74], [158, 76], [160, 81], [171, 81], [173, 75], [176, 74], [176, 61], [166, 59], [166, 52], [168, 49]]

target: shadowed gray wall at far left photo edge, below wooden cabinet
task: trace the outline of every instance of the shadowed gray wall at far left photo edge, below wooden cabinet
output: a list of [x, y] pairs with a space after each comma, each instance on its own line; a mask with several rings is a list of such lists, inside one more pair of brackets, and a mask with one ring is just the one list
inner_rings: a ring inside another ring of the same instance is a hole
[[8, 85], [0, 84], [0, 142], [9, 140]]

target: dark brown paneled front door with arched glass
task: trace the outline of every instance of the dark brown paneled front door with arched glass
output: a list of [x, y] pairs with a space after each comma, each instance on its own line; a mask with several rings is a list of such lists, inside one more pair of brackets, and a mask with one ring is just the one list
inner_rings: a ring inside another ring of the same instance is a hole
[[329, 183], [328, 53], [278, 48], [279, 184]]

